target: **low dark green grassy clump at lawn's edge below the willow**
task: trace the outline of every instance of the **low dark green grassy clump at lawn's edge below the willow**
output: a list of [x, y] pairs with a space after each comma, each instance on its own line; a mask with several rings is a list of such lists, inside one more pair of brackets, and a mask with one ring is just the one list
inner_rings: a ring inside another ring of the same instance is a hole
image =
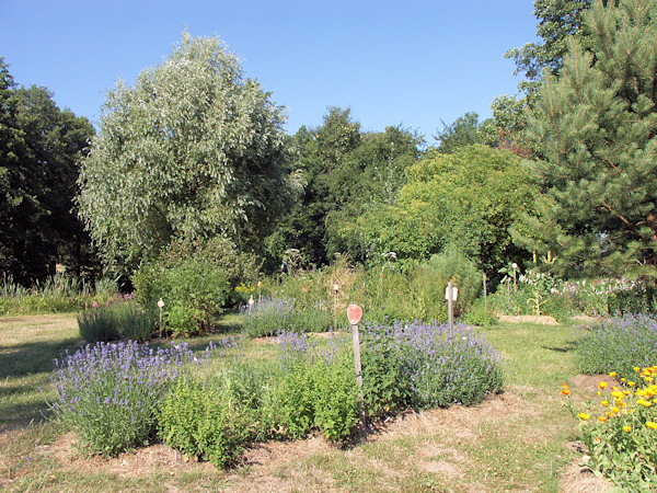
[[148, 341], [155, 328], [152, 310], [127, 301], [91, 308], [78, 313], [80, 336], [89, 342], [108, 342], [120, 339]]

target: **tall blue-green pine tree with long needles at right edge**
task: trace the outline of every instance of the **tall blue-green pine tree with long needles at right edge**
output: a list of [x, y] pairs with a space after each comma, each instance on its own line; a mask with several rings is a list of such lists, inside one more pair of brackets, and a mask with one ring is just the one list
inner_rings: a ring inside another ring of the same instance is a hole
[[596, 1], [545, 73], [531, 133], [545, 161], [532, 248], [567, 275], [657, 277], [657, 2]]

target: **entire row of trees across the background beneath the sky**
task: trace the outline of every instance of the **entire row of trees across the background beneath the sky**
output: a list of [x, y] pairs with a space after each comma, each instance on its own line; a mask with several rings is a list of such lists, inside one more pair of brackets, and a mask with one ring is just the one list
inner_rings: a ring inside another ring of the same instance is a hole
[[77, 205], [117, 274], [220, 238], [269, 271], [290, 251], [310, 267], [456, 248], [493, 275], [535, 251], [567, 276], [653, 276], [657, 5], [534, 8], [539, 43], [507, 54], [520, 95], [496, 99], [493, 118], [441, 122], [429, 148], [407, 128], [364, 131], [339, 107], [285, 135], [283, 110], [216, 37], [185, 33], [160, 67], [118, 83], [95, 137], [2, 62], [2, 270], [80, 272]]

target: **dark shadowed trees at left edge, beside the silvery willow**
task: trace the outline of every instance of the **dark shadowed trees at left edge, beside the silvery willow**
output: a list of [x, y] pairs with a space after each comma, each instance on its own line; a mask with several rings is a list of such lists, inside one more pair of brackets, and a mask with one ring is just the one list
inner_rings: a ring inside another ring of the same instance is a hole
[[30, 284], [93, 260], [73, 210], [79, 162], [94, 130], [46, 88], [18, 88], [0, 59], [0, 267]]

